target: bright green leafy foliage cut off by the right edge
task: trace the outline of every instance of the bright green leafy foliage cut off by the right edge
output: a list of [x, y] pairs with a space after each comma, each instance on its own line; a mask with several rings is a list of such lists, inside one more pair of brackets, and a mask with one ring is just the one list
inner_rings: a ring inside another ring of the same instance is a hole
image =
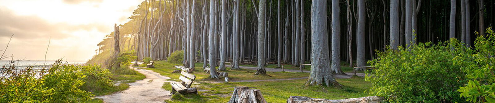
[[457, 91], [469, 102], [495, 103], [495, 33], [492, 27], [487, 29], [486, 36], [476, 38], [475, 50], [476, 53], [465, 54], [467, 57], [456, 58], [456, 63], [466, 65], [462, 69], [469, 80]]

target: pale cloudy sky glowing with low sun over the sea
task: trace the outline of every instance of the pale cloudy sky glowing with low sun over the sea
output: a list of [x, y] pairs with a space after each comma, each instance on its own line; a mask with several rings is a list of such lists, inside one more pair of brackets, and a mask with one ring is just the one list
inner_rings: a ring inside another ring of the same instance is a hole
[[13, 34], [4, 53], [13, 59], [89, 60], [142, 1], [0, 0], [0, 50]]

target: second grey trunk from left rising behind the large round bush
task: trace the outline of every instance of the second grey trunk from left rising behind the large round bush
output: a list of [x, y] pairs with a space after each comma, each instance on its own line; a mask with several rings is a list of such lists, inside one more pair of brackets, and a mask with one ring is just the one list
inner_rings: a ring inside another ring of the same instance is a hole
[[405, 28], [404, 28], [404, 33], [405, 33], [405, 45], [406, 46], [411, 46], [411, 41], [412, 41], [412, 25], [411, 25], [411, 19], [412, 19], [412, 4], [411, 0], [405, 0]]

